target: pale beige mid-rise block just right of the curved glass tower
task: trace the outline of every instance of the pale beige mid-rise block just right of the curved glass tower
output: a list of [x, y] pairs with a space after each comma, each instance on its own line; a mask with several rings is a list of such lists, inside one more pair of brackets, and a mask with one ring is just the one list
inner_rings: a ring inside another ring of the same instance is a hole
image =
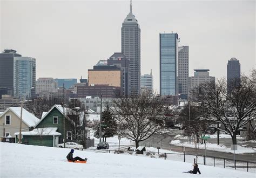
[[36, 81], [36, 93], [39, 95], [49, 95], [57, 92], [58, 83], [53, 78], [38, 78]]

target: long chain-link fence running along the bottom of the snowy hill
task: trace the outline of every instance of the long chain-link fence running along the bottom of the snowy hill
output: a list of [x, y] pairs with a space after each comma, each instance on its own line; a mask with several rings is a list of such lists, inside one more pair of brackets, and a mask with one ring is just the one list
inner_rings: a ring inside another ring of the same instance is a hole
[[[85, 149], [83, 149], [85, 150]], [[127, 150], [109, 150], [109, 149], [86, 149], [92, 150], [94, 152], [100, 153], [117, 153], [117, 154], [130, 154], [136, 156], [142, 156], [141, 154], [137, 154], [135, 151], [127, 151]], [[194, 155], [194, 154], [186, 154], [184, 153], [158, 153], [158, 152], [144, 152], [144, 155], [149, 156], [151, 158], [160, 158], [165, 160], [173, 160], [173, 161], [183, 161], [183, 162], [191, 162], [193, 163], [197, 158], [197, 163], [200, 165], [242, 170], [247, 172], [256, 173], [256, 162], [252, 161], [242, 161], [242, 160], [232, 160], [214, 156], [205, 156], [205, 155]]]

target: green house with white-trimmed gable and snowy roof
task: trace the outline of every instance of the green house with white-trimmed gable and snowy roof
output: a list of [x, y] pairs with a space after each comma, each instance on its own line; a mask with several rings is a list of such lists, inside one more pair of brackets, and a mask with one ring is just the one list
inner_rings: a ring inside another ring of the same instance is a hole
[[[72, 128], [71, 120], [66, 117], [65, 109], [65, 129], [66, 136], [69, 138], [69, 130]], [[63, 107], [54, 105], [47, 113], [43, 113], [41, 120], [36, 124], [35, 129], [30, 132], [22, 132], [22, 142], [28, 145], [52, 146], [64, 142], [64, 122]], [[19, 133], [15, 133], [18, 136]], [[16, 139], [18, 140], [18, 139]]]

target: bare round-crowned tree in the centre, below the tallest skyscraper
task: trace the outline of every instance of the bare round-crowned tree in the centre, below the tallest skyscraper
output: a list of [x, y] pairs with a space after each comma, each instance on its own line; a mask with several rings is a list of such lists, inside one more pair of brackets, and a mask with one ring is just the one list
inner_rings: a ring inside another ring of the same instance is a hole
[[144, 141], [160, 131], [163, 125], [165, 98], [150, 95], [143, 91], [129, 98], [113, 100], [114, 107], [110, 108], [117, 120], [118, 134], [136, 143]]

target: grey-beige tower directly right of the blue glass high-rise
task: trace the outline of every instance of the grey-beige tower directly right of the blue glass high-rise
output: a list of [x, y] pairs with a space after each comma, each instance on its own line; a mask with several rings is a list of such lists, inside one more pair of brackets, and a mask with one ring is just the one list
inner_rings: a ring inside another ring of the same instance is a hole
[[181, 99], [187, 99], [187, 80], [189, 76], [189, 48], [180, 46], [178, 48], [178, 93]]

